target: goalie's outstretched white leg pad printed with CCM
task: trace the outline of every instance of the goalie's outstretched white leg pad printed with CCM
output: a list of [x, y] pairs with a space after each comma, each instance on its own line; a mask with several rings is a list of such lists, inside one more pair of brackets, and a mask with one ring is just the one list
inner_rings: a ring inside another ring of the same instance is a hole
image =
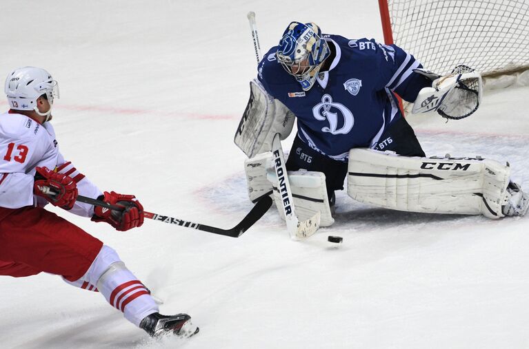
[[351, 149], [348, 194], [400, 211], [503, 217], [510, 167], [481, 158], [419, 158]]

